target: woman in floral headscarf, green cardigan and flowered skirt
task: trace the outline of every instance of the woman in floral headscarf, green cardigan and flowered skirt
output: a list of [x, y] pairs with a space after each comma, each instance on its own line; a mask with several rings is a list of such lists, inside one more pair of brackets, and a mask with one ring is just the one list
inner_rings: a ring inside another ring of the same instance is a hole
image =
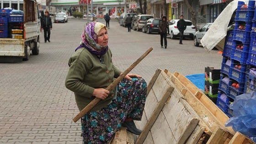
[[133, 120], [142, 118], [147, 84], [141, 76], [128, 74], [115, 88], [106, 90], [122, 72], [112, 63], [104, 24], [86, 26], [68, 64], [65, 86], [75, 93], [79, 110], [95, 98], [101, 99], [81, 118], [83, 144], [108, 144], [121, 126], [136, 135], [141, 133]]

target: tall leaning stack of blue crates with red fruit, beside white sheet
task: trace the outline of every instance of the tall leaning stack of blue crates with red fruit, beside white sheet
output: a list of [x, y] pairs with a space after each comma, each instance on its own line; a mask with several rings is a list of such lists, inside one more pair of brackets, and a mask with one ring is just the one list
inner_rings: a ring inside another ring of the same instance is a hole
[[[229, 103], [233, 102], [236, 96], [244, 93], [246, 60], [249, 55], [254, 13], [254, 0], [249, 0], [248, 4], [245, 4], [243, 1], [238, 1], [233, 40], [229, 37], [229, 35], [232, 35], [231, 31], [227, 33], [228, 38], [226, 38], [225, 41], [217, 106], [229, 117], [233, 116], [232, 110], [229, 109]], [[232, 49], [229, 57], [228, 54], [231, 43]], [[225, 77], [228, 77], [229, 80], [226, 80]], [[226, 94], [226, 97], [223, 96], [223, 93]]]

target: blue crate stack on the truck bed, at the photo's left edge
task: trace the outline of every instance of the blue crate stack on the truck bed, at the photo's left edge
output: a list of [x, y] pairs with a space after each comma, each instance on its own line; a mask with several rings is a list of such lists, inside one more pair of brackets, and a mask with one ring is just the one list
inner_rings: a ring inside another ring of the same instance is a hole
[[11, 10], [0, 9], [0, 38], [8, 37], [8, 17]]

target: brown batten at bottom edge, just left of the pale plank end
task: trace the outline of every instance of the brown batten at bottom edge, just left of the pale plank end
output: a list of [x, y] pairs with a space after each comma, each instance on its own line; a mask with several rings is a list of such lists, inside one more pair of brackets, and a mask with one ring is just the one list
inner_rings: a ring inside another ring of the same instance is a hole
[[[189, 138], [191, 133], [196, 128], [198, 122], [199, 122], [199, 120], [197, 118], [192, 118], [191, 119], [191, 121], [188, 123], [188, 125], [184, 129], [180, 139], [177, 140], [177, 144], [184, 144], [187, 141], [187, 139]], [[184, 126], [184, 125], [181, 125], [181, 126]]]

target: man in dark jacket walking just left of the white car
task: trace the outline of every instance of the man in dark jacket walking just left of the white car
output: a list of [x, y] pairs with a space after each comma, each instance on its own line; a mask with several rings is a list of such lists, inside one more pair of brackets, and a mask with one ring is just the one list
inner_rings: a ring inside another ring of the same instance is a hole
[[159, 30], [160, 30], [160, 43], [161, 43], [161, 48], [163, 47], [163, 39], [165, 40], [165, 48], [167, 48], [167, 32], [169, 33], [169, 24], [167, 21], [166, 16], [162, 17], [162, 21], [159, 22]]

